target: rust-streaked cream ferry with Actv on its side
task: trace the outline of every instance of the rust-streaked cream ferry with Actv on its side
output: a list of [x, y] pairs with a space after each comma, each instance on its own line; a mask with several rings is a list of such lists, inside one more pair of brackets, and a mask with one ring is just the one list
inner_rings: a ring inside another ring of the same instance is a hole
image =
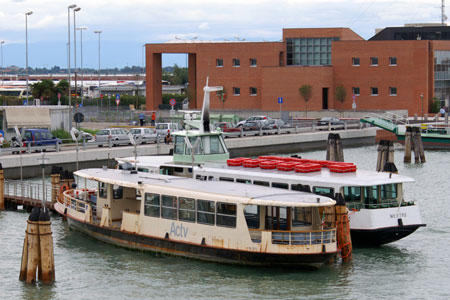
[[[339, 252], [336, 202], [328, 197], [106, 168], [75, 175], [80, 189], [64, 192], [56, 211], [70, 227], [117, 246], [290, 268], [317, 268]], [[98, 188], [81, 188], [91, 181]]]

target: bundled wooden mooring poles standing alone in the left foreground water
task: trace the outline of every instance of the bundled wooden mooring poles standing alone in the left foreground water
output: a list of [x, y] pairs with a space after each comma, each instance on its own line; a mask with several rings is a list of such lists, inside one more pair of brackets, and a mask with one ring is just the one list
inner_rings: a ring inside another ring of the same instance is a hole
[[36, 273], [38, 280], [45, 284], [55, 281], [50, 214], [45, 207], [33, 208], [27, 220], [19, 280], [35, 283]]

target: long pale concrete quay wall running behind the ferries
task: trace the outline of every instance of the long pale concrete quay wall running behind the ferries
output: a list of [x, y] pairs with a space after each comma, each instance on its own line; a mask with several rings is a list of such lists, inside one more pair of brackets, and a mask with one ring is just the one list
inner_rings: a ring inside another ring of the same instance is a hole
[[[375, 143], [376, 128], [364, 128], [359, 130], [336, 130], [345, 146], [371, 145]], [[326, 141], [329, 131], [315, 131], [296, 134], [250, 136], [243, 138], [227, 138], [225, 142], [232, 157], [254, 156], [267, 153], [294, 153], [312, 149], [326, 149]], [[137, 148], [138, 155], [168, 155], [173, 145], [151, 144], [141, 145]], [[117, 157], [133, 156], [133, 146], [101, 147], [78, 151], [78, 168], [95, 168], [107, 165], [113, 167]], [[20, 165], [24, 178], [37, 177], [42, 174], [42, 154], [23, 154], [22, 163], [20, 155], [8, 155], [1, 157], [1, 163], [8, 179], [20, 178]], [[76, 170], [76, 150], [62, 152], [46, 152], [45, 172], [49, 174], [52, 165], [62, 166], [69, 171]]]

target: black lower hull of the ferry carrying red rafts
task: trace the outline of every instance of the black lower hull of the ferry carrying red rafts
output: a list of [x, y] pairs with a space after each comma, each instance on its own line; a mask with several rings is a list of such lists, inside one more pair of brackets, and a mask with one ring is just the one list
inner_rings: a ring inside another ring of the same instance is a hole
[[350, 236], [355, 246], [381, 246], [398, 241], [421, 226], [425, 225], [395, 226], [370, 230], [351, 229]]

